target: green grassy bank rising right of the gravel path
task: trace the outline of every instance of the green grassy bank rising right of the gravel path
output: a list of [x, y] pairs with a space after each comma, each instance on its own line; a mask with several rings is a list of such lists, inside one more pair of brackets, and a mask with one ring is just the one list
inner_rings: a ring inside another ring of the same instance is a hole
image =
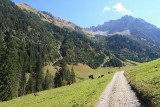
[[125, 72], [138, 95], [149, 105], [160, 107], [160, 59]]

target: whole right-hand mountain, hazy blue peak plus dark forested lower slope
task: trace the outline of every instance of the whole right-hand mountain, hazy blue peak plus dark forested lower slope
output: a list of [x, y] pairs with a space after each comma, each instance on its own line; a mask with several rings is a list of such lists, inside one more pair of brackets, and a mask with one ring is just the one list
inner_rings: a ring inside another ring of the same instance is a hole
[[143, 19], [124, 16], [88, 30], [97, 32], [98, 44], [118, 58], [146, 62], [160, 57], [160, 29]]

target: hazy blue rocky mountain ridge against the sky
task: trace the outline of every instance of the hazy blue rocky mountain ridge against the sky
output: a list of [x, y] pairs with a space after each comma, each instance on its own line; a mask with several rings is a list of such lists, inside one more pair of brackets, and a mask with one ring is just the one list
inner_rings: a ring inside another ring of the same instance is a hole
[[118, 20], [105, 22], [103, 25], [88, 28], [92, 32], [114, 34], [128, 31], [133, 37], [160, 44], [160, 29], [140, 18], [124, 16]]

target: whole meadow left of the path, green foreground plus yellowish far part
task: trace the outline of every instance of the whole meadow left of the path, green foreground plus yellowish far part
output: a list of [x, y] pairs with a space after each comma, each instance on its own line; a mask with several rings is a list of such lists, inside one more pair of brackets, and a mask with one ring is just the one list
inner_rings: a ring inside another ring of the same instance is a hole
[[[7, 102], [1, 102], [0, 107], [92, 107], [96, 104], [100, 94], [105, 89], [106, 85], [112, 79], [114, 72], [125, 70], [126, 66], [119, 68], [102, 68], [94, 70], [87, 65], [69, 65], [73, 67], [77, 75], [77, 80], [82, 78], [82, 81], [71, 86], [64, 86], [52, 90], [39, 92], [39, 96], [29, 94]], [[55, 69], [52, 64], [48, 64], [43, 68], [43, 71], [49, 70], [54, 74]], [[108, 74], [108, 72], [113, 72]], [[94, 75], [94, 80], [89, 80], [88, 75]], [[97, 78], [100, 75], [105, 75], [104, 78]]]

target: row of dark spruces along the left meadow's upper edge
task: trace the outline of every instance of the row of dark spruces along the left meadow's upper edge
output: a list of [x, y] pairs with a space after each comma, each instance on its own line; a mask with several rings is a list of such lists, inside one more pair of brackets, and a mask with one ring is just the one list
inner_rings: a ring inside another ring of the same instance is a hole
[[[40, 47], [37, 48], [39, 49]], [[39, 49], [39, 52], [36, 52], [36, 58], [33, 58], [34, 55], [28, 54], [29, 61], [36, 60], [32, 62], [33, 65], [29, 63], [29, 66], [25, 68], [23, 65], [25, 65], [26, 59], [19, 52], [16, 38], [12, 36], [11, 31], [0, 32], [0, 101], [70, 85], [75, 82], [74, 70], [72, 68], [70, 71], [65, 61], [62, 61], [60, 69], [55, 76], [51, 75], [49, 70], [44, 74], [42, 71], [44, 58], [41, 52], [41, 49]], [[29, 70], [28, 80], [25, 70]]]

